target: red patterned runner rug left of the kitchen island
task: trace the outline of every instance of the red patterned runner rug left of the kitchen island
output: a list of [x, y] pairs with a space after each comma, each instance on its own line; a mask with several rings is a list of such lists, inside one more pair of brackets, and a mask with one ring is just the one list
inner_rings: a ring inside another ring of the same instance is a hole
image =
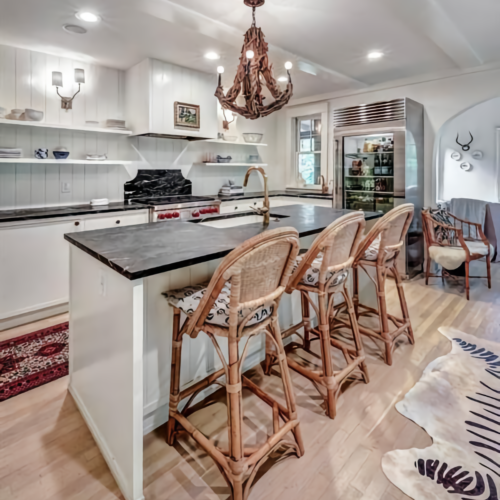
[[0, 401], [68, 374], [69, 324], [0, 342]]

